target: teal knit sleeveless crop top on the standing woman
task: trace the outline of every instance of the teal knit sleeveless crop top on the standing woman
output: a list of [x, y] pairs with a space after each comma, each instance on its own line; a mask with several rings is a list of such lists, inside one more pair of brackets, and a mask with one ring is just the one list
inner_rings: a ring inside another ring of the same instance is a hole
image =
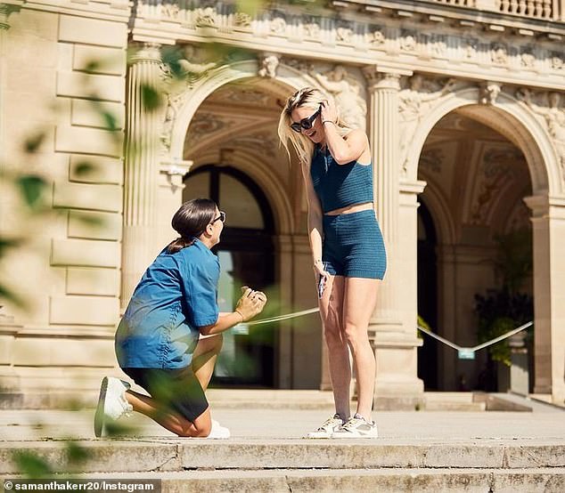
[[310, 176], [323, 213], [355, 204], [373, 202], [373, 165], [351, 161], [339, 165], [330, 154], [315, 146]]

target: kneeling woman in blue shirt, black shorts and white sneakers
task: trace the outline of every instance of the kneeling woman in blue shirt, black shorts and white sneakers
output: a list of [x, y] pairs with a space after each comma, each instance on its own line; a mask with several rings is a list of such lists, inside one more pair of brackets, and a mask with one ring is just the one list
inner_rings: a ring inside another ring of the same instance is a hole
[[150, 396], [118, 378], [102, 380], [94, 416], [101, 436], [109, 420], [134, 410], [181, 437], [228, 438], [210, 416], [205, 391], [222, 332], [256, 316], [266, 295], [243, 287], [232, 313], [219, 313], [220, 265], [210, 248], [224, 229], [225, 213], [208, 198], [185, 202], [173, 216], [180, 235], [151, 263], [135, 287], [116, 333], [120, 368]]

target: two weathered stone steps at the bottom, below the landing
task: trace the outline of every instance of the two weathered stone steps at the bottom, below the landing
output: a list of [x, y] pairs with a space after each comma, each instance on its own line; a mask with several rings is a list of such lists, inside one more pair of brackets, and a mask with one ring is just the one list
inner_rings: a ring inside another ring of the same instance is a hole
[[[0, 474], [28, 450], [75, 477], [160, 479], [162, 491], [565, 491], [565, 440], [199, 440], [144, 437], [4, 444]], [[72, 461], [71, 461], [72, 462]]]

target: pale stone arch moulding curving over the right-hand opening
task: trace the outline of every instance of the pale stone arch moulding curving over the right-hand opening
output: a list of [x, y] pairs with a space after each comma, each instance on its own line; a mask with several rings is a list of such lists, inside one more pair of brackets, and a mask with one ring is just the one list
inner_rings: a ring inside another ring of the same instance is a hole
[[503, 134], [524, 153], [534, 195], [559, 193], [559, 159], [549, 134], [536, 116], [507, 93], [500, 93], [494, 106], [479, 105], [476, 101], [479, 101], [479, 88], [467, 87], [426, 112], [408, 150], [408, 178], [416, 179], [420, 154], [434, 125], [454, 109], [460, 109], [464, 115]]

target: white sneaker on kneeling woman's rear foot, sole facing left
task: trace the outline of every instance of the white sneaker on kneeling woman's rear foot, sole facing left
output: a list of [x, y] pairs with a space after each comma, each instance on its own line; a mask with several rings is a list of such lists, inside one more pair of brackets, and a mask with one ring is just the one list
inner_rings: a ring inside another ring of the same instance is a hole
[[115, 421], [129, 415], [134, 408], [126, 400], [126, 391], [131, 385], [113, 376], [104, 376], [100, 385], [98, 406], [94, 414], [94, 435], [98, 438], [105, 432], [106, 421]]

